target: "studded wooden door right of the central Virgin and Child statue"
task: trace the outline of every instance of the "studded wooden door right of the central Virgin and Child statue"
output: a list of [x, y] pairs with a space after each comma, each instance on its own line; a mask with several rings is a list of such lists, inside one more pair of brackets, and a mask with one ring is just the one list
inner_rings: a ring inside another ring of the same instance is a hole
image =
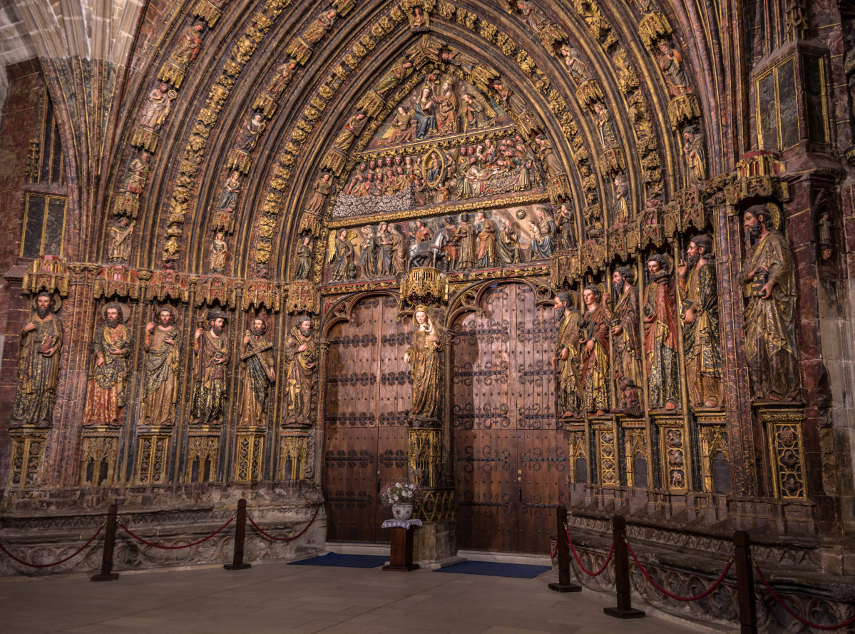
[[488, 289], [482, 308], [452, 326], [457, 548], [544, 554], [569, 472], [551, 363], [557, 318], [519, 283]]

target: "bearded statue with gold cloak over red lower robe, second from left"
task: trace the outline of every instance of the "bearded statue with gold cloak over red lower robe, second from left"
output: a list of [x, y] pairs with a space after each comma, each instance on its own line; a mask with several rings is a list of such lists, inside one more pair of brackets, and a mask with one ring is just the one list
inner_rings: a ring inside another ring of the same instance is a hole
[[83, 414], [85, 425], [121, 425], [125, 409], [131, 330], [123, 323], [130, 317], [121, 304], [103, 309], [104, 323], [95, 332], [92, 366]]

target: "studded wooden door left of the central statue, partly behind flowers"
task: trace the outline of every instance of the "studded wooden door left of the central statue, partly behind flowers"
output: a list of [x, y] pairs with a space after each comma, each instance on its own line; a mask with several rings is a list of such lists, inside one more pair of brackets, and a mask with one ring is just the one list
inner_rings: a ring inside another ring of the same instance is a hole
[[380, 485], [406, 477], [410, 323], [386, 296], [363, 299], [328, 335], [324, 394], [327, 539], [386, 542]]

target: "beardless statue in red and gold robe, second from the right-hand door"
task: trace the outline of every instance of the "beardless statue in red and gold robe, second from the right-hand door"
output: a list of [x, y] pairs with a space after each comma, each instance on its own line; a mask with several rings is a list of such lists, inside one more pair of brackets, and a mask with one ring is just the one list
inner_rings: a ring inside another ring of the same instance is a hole
[[582, 291], [585, 317], [579, 324], [581, 343], [582, 410], [594, 416], [609, 411], [611, 389], [609, 386], [609, 309], [600, 302], [603, 293], [597, 286], [587, 286]]

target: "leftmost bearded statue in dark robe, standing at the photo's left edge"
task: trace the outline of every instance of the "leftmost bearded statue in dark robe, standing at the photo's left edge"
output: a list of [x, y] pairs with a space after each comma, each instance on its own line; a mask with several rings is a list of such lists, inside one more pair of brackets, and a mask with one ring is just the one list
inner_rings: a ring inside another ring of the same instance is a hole
[[9, 427], [53, 424], [56, 382], [62, 350], [62, 321], [54, 314], [56, 300], [42, 291], [18, 338], [18, 388]]

